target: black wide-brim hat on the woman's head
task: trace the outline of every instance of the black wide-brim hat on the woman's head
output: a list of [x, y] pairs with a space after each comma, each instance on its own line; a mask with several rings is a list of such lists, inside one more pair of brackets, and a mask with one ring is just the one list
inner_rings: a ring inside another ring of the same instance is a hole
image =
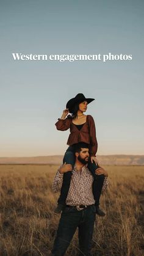
[[78, 93], [76, 95], [76, 97], [74, 98], [71, 98], [68, 102], [67, 102], [67, 105], [66, 105], [66, 108], [68, 108], [68, 111], [70, 113], [73, 112], [73, 108], [74, 108], [74, 105], [76, 103], [82, 103], [83, 101], [87, 101], [87, 104], [89, 104], [90, 102], [92, 102], [93, 100], [95, 100], [94, 98], [85, 98], [84, 94], [82, 93]]

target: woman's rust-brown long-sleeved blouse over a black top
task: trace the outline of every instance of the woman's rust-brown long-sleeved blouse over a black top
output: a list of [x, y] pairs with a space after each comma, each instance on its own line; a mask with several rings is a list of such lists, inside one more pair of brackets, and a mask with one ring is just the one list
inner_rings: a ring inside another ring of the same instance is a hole
[[85, 142], [90, 145], [90, 156], [95, 156], [98, 150], [98, 142], [96, 140], [95, 122], [92, 115], [87, 115], [86, 122], [81, 130], [74, 125], [72, 118], [58, 119], [55, 123], [57, 130], [66, 131], [70, 128], [67, 145], [72, 146], [79, 142]]

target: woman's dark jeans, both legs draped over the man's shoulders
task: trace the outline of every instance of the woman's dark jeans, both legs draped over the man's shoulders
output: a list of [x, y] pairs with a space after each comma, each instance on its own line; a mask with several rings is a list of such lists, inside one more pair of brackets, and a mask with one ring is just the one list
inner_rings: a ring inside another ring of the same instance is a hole
[[[67, 151], [65, 152], [65, 155], [63, 157], [63, 163], [71, 164], [74, 166], [75, 163], [75, 156], [74, 156], [74, 148], [73, 146], [68, 147]], [[93, 196], [95, 199], [95, 204], [99, 205], [99, 198], [101, 196], [101, 190], [103, 188], [103, 183], [104, 183], [104, 175], [96, 175], [95, 170], [99, 166], [96, 165], [95, 161], [91, 163], [91, 161], [88, 161], [88, 169], [92, 173], [94, 180], [93, 180]], [[58, 203], [65, 205], [65, 201], [68, 196], [68, 190], [70, 188], [70, 182], [71, 182], [71, 175], [72, 172], [66, 172], [63, 174], [63, 183], [62, 183], [62, 188], [60, 190], [60, 197], [58, 199]]]

